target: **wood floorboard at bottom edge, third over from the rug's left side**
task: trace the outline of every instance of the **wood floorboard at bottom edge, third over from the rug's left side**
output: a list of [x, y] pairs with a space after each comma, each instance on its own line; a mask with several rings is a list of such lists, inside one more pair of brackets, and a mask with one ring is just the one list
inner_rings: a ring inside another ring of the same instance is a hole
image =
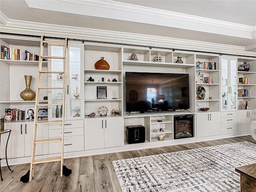
[[95, 192], [93, 173], [78, 176], [76, 192]]

